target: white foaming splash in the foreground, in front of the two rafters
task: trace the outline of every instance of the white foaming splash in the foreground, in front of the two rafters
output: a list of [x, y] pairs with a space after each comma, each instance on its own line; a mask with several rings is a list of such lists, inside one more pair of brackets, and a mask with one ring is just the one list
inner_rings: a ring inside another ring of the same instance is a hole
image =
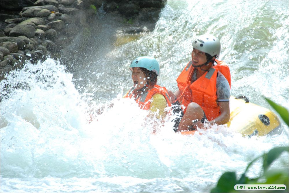
[[[152, 134], [142, 124], [147, 111], [121, 95], [88, 123], [91, 107], [53, 59], [27, 63], [1, 90], [1, 190], [8, 192], [53, 192], [63, 184], [68, 192], [206, 191], [224, 171], [242, 173], [252, 157], [288, 143], [284, 133], [248, 139], [225, 126], [183, 136], [171, 121]], [[286, 155], [275, 165], [284, 162]]]

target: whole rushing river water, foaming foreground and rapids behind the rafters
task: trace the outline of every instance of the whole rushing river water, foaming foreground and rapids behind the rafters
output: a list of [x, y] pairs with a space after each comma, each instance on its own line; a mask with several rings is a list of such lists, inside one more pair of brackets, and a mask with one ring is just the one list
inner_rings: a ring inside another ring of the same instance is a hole
[[[1, 81], [1, 192], [208, 192], [225, 171], [240, 177], [253, 158], [288, 145], [284, 122], [264, 137], [225, 126], [183, 136], [171, 121], [151, 134], [147, 112], [122, 98], [132, 85], [128, 67], [155, 57], [158, 84], [175, 91], [192, 39], [212, 33], [231, 70], [231, 95], [271, 108], [266, 96], [288, 109], [288, 15], [288, 1], [168, 1], [154, 31], [126, 44], [109, 22], [97, 25], [101, 38], [68, 61], [72, 70], [61, 60], [28, 62]], [[110, 101], [88, 123], [90, 110]], [[272, 168], [288, 170], [288, 153]], [[248, 176], [261, 172], [259, 160]]]

